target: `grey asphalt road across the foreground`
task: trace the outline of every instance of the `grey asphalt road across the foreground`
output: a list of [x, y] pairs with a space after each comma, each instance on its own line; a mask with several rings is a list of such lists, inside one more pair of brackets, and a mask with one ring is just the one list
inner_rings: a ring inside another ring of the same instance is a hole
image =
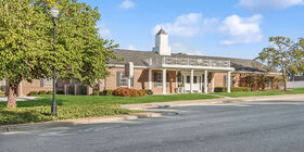
[[304, 99], [162, 110], [160, 118], [0, 134], [0, 151], [304, 152]]

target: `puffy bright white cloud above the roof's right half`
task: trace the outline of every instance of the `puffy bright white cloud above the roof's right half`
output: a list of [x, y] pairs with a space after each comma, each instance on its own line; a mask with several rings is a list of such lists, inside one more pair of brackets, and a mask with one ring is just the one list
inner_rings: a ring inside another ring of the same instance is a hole
[[263, 38], [261, 31], [262, 15], [253, 15], [251, 17], [240, 17], [231, 15], [226, 17], [218, 28], [224, 39], [220, 45], [251, 43], [258, 42]]

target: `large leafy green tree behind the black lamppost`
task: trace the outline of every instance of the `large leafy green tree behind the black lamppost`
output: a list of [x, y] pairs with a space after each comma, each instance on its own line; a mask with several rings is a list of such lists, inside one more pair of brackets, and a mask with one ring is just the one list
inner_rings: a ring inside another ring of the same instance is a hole
[[[58, 39], [49, 10], [60, 9]], [[22, 80], [51, 78], [52, 68], [63, 79], [93, 85], [109, 72], [106, 63], [116, 59], [113, 41], [100, 38], [98, 9], [76, 0], [0, 1], [0, 79], [9, 83], [9, 107], [16, 106]], [[53, 51], [53, 48], [56, 51]]]

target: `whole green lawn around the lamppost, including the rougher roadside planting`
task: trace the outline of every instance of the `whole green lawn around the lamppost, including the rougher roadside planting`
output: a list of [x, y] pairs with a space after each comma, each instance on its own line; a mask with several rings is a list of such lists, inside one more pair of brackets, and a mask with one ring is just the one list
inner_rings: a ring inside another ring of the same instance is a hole
[[147, 96], [139, 98], [115, 96], [56, 96], [58, 117], [51, 116], [52, 96], [39, 96], [37, 100], [18, 101], [17, 109], [5, 109], [0, 102], [0, 126], [10, 124], [38, 123], [81, 117], [98, 117], [139, 113], [121, 109], [118, 104], [135, 104], [180, 100], [216, 99], [211, 94]]

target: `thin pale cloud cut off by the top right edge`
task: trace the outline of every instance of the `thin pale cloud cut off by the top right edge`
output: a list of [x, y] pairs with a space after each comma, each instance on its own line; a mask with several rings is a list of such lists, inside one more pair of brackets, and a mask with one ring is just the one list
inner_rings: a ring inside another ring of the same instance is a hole
[[238, 3], [251, 11], [281, 10], [299, 4], [304, 4], [304, 0], [240, 0]]

